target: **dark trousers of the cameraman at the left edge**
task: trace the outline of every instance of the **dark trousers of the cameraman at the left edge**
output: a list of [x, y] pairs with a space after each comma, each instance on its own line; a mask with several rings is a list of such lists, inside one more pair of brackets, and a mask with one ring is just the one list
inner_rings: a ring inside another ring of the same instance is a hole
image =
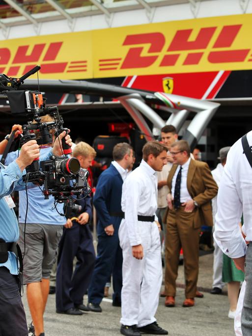
[[17, 277], [0, 267], [0, 336], [28, 336]]

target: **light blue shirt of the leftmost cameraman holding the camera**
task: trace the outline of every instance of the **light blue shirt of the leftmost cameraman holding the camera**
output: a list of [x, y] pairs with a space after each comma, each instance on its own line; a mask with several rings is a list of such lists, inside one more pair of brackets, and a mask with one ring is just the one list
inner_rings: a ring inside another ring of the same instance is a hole
[[[52, 152], [50, 151], [41, 160], [48, 160], [51, 155]], [[14, 190], [25, 189], [22, 181], [22, 172], [14, 160], [12, 157], [12, 162], [7, 167], [0, 164], [0, 238], [6, 243], [18, 241], [19, 228], [15, 212], [13, 208], [9, 208], [4, 196], [10, 195]], [[33, 184], [28, 183], [28, 188], [31, 186]], [[17, 275], [18, 263], [16, 255], [13, 252], [8, 252], [8, 256], [8, 260], [5, 263], [0, 263], [0, 266], [7, 267], [11, 274]]]

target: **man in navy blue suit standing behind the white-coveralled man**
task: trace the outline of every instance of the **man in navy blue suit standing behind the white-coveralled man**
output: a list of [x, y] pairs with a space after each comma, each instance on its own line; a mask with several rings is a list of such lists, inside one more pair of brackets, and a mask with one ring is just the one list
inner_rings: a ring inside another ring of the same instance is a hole
[[113, 148], [113, 161], [99, 177], [93, 203], [97, 212], [98, 246], [96, 263], [88, 288], [88, 308], [101, 312], [100, 303], [104, 287], [112, 274], [113, 306], [121, 306], [122, 251], [119, 245], [118, 229], [123, 214], [121, 210], [122, 184], [127, 168], [133, 162], [133, 149], [126, 143]]

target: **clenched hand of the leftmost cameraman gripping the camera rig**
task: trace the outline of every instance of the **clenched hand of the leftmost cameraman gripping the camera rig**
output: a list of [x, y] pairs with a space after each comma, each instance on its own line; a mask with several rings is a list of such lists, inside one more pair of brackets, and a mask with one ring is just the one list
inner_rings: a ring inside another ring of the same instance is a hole
[[16, 159], [21, 171], [23, 171], [27, 166], [29, 166], [35, 159], [39, 157], [39, 145], [36, 140], [29, 140], [23, 144], [20, 155]]

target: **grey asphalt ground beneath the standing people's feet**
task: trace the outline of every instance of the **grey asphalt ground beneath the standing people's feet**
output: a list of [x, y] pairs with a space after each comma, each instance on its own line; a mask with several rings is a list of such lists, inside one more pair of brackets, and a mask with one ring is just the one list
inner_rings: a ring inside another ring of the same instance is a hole
[[[191, 308], [183, 308], [184, 300], [184, 270], [179, 266], [176, 306], [165, 307], [165, 298], [160, 298], [156, 318], [162, 328], [168, 330], [170, 336], [234, 336], [233, 320], [227, 317], [228, 300], [226, 295], [210, 294], [212, 285], [212, 254], [200, 256], [198, 288], [204, 293], [204, 298], [196, 299]], [[26, 289], [25, 289], [26, 290]], [[110, 289], [110, 294], [112, 290]], [[23, 297], [27, 321], [30, 314]], [[86, 296], [84, 297], [86, 303]], [[57, 314], [55, 295], [49, 295], [44, 314], [46, 336], [82, 336], [120, 335], [120, 308], [112, 307], [111, 296], [101, 303], [102, 313], [87, 312], [82, 316]], [[31, 335], [31, 334], [29, 334]]]

